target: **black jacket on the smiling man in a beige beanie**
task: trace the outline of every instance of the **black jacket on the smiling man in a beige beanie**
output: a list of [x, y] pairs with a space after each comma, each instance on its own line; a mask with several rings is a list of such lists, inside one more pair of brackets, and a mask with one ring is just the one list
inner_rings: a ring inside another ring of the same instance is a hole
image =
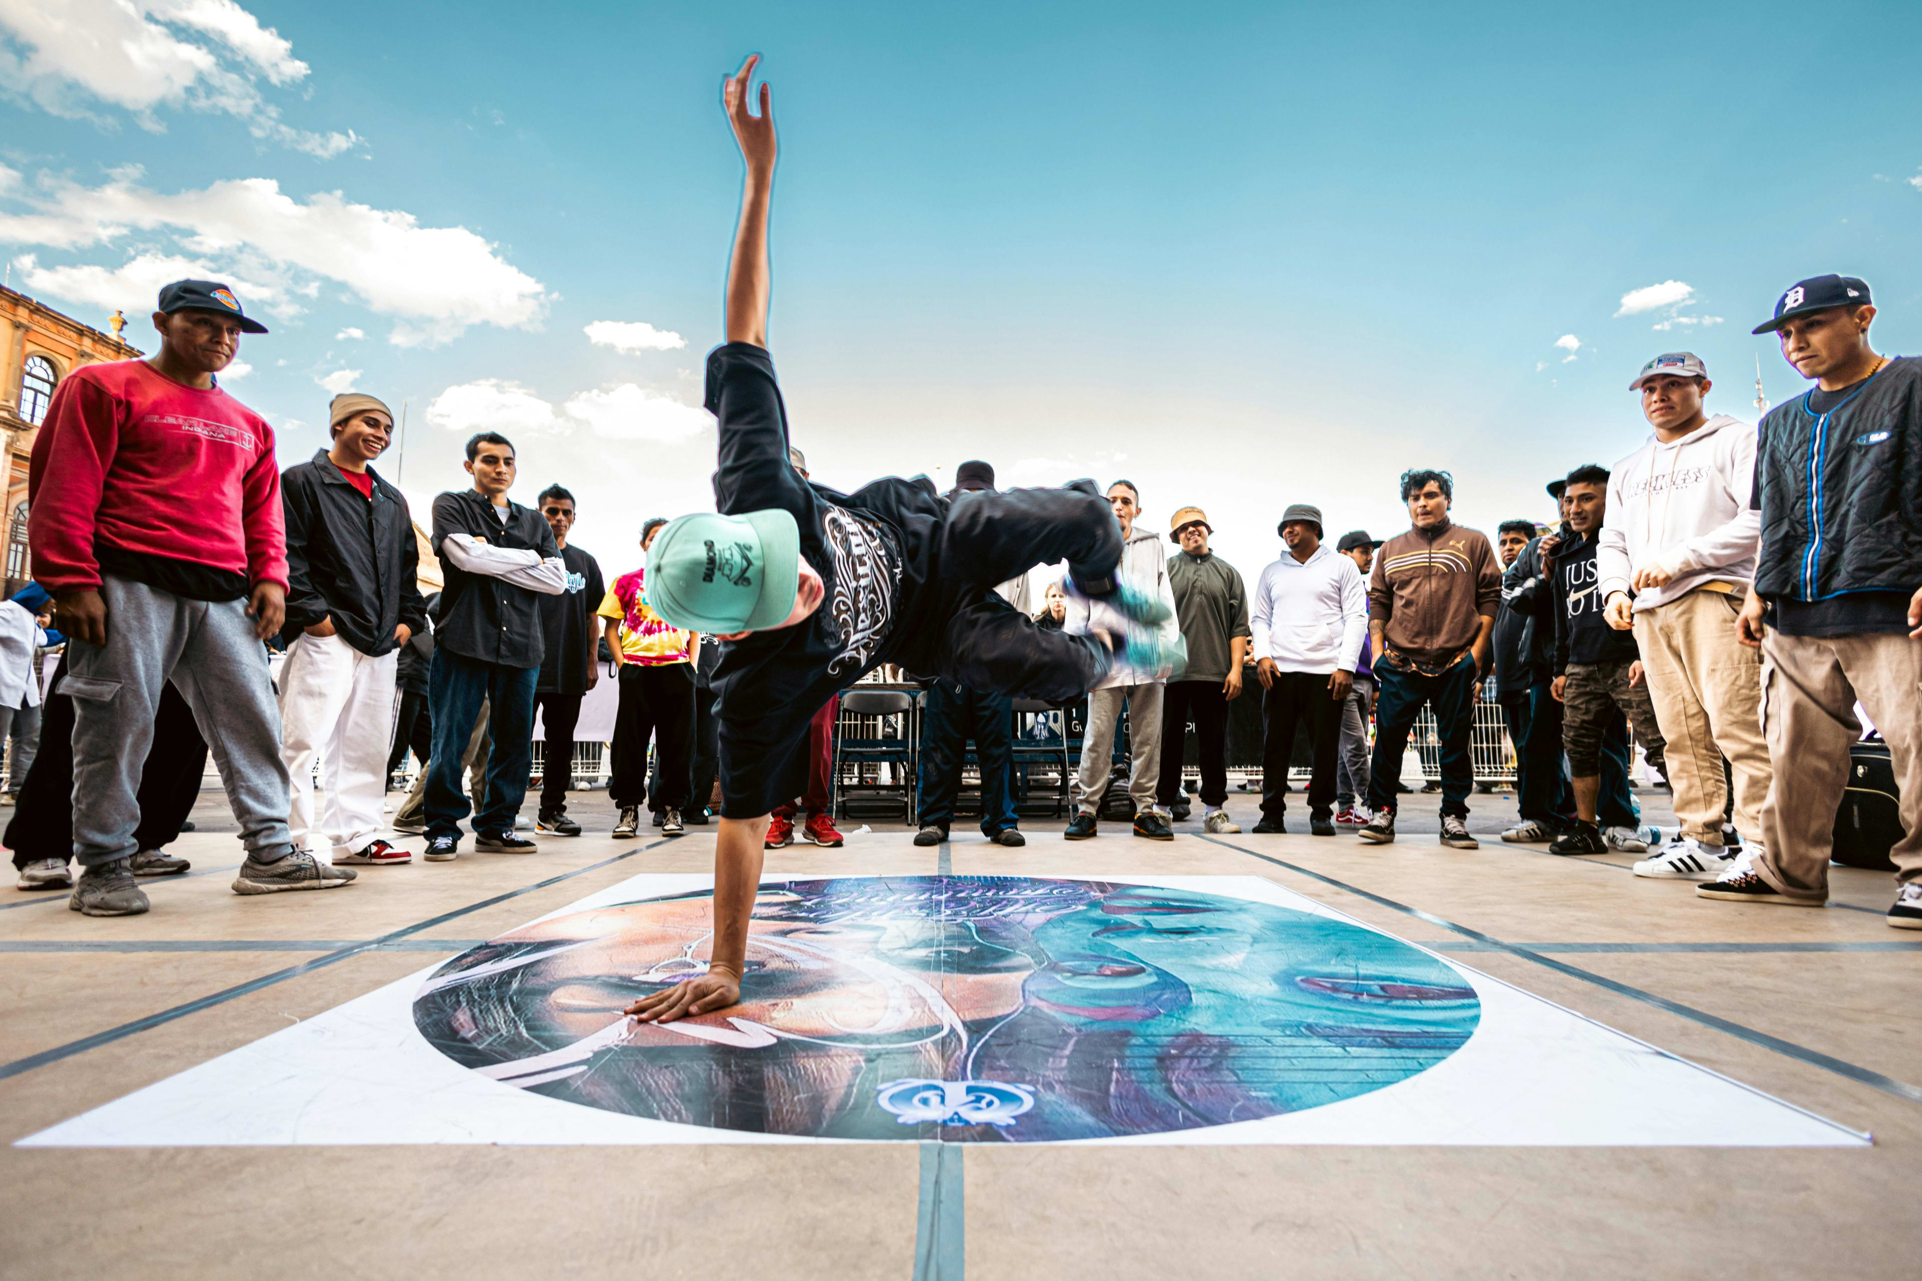
[[369, 467], [373, 497], [361, 497], [340, 469], [317, 451], [281, 472], [286, 517], [286, 622], [294, 643], [306, 628], [334, 620], [340, 640], [363, 655], [394, 647], [394, 628], [427, 626], [427, 603], [415, 582], [419, 549], [400, 490]]

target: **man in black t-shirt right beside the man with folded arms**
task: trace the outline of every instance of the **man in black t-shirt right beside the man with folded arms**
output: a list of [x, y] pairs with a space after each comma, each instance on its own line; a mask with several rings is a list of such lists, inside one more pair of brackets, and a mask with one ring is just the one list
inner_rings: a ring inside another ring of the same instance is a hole
[[567, 590], [540, 597], [546, 653], [540, 659], [540, 678], [534, 682], [534, 701], [540, 705], [548, 755], [540, 770], [540, 818], [534, 830], [580, 835], [580, 824], [567, 816], [567, 784], [575, 774], [575, 724], [580, 720], [580, 699], [600, 682], [600, 628], [592, 626], [592, 618], [607, 586], [594, 557], [567, 544], [567, 530], [575, 528], [575, 495], [550, 484], [536, 501], [548, 528], [554, 530], [554, 545], [561, 549]]

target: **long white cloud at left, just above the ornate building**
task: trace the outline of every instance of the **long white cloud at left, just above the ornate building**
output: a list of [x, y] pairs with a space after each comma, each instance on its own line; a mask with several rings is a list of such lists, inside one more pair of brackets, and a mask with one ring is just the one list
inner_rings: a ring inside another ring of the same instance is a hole
[[86, 250], [135, 232], [171, 232], [211, 275], [252, 267], [294, 311], [292, 294], [311, 298], [321, 280], [344, 284], [396, 319], [388, 340], [404, 348], [448, 342], [469, 325], [532, 328], [548, 305], [540, 280], [465, 227], [421, 227], [404, 209], [375, 209], [340, 192], [300, 202], [273, 179], [227, 179], [163, 194], [140, 186], [138, 169], [121, 169], [102, 186], [50, 179], [31, 192], [4, 171], [0, 196], [25, 205], [0, 211], [0, 240]]

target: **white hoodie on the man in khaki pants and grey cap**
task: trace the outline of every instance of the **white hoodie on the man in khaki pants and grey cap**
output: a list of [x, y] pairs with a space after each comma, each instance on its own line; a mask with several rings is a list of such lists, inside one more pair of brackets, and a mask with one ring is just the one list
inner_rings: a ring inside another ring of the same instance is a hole
[[1755, 486], [1755, 424], [1718, 413], [1682, 440], [1655, 436], [1609, 474], [1609, 515], [1595, 544], [1597, 595], [1628, 592], [1636, 570], [1661, 565], [1674, 578], [1636, 592], [1655, 609], [1705, 582], [1747, 590], [1755, 578], [1762, 513]]

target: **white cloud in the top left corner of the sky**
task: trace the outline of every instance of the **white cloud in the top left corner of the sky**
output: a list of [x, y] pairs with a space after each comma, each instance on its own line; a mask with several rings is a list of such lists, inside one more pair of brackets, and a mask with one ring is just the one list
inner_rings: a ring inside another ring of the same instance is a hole
[[286, 125], [256, 86], [306, 75], [294, 46], [234, 0], [0, 0], [0, 85], [54, 115], [106, 123], [94, 108], [121, 108], [160, 133], [158, 108], [217, 111], [323, 159], [361, 142]]

